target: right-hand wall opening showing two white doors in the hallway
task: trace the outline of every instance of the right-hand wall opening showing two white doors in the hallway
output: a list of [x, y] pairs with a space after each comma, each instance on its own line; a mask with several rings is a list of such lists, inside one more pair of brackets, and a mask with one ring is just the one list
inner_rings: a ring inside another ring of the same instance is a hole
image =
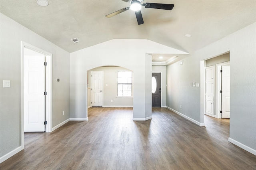
[[227, 52], [202, 62], [204, 62], [204, 67], [201, 65], [201, 80], [203, 80], [201, 83], [204, 82], [201, 89], [204, 91], [204, 97], [201, 96], [201, 99], [204, 99], [203, 114], [215, 118], [229, 118], [230, 53]]

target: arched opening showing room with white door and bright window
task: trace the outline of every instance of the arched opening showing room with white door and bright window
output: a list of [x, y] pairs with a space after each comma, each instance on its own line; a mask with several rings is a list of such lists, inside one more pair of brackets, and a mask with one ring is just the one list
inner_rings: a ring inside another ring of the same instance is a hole
[[133, 107], [133, 72], [119, 66], [87, 71], [87, 120], [90, 107]]

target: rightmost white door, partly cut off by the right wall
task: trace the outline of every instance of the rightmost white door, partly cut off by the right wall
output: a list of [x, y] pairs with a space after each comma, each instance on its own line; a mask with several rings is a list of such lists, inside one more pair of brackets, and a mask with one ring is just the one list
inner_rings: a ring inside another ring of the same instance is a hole
[[229, 65], [222, 65], [221, 82], [222, 82], [221, 118], [230, 118], [230, 66]]

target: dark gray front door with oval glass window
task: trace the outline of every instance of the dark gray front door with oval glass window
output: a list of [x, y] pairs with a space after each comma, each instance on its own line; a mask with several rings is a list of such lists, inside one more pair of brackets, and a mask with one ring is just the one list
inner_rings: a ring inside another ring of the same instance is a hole
[[161, 107], [161, 73], [152, 73], [152, 107]]

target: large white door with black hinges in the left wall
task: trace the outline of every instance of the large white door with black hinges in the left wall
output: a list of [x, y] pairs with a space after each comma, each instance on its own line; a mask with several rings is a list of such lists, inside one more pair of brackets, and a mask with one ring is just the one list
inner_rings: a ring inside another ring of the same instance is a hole
[[24, 132], [44, 132], [44, 61], [44, 55], [25, 55], [24, 51]]

